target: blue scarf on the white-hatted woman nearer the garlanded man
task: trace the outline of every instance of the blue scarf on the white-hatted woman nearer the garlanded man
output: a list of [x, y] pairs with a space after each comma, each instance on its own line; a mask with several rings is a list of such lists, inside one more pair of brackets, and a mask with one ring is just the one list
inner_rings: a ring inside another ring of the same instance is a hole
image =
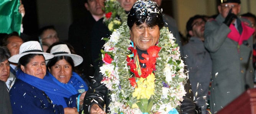
[[72, 92], [73, 94], [77, 93], [83, 93], [88, 90], [87, 85], [85, 84], [84, 80], [75, 72], [72, 72], [72, 76], [67, 82], [67, 84], [64, 84], [60, 81], [58, 81], [51, 73], [49, 73], [48, 76], [45, 76], [44, 79], [47, 80], [52, 79], [54, 82], [56, 82], [59, 86], [62, 86]]

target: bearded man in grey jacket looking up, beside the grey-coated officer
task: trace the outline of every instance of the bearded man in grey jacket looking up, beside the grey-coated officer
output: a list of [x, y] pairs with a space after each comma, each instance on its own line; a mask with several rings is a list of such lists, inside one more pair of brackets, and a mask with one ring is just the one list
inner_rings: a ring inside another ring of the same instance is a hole
[[[212, 60], [203, 44], [205, 19], [195, 15], [187, 21], [187, 36], [189, 42], [183, 46], [185, 65], [189, 70], [189, 80], [194, 93], [197, 110], [206, 114], [209, 84], [212, 73]], [[198, 109], [200, 108], [200, 110]]]

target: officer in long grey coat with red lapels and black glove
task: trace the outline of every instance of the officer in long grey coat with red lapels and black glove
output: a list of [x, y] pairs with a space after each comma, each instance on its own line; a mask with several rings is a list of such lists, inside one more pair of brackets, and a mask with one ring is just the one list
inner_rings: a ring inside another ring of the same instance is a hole
[[253, 87], [253, 28], [237, 16], [240, 0], [221, 0], [219, 14], [205, 24], [205, 47], [213, 73], [210, 95], [212, 114]]

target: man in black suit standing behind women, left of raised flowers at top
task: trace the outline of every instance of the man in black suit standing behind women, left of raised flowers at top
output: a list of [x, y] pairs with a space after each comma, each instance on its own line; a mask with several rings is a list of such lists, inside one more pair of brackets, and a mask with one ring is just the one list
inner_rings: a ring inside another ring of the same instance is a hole
[[85, 0], [84, 6], [88, 10], [86, 16], [74, 21], [69, 26], [69, 43], [75, 52], [82, 56], [84, 61], [79, 65], [84, 80], [94, 74], [91, 59], [91, 32], [94, 24], [103, 17], [105, 0]]

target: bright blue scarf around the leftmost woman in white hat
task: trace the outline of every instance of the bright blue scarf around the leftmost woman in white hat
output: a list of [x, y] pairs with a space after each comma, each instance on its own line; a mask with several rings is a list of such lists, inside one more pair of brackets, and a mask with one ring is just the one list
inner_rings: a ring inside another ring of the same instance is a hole
[[[54, 82], [51, 78], [40, 79], [24, 73], [20, 69], [16, 74], [18, 79], [44, 91], [46, 95], [53, 101], [53, 104], [62, 105], [63, 108], [67, 107], [67, 103], [64, 98], [69, 98], [71, 95], [76, 94], [74, 92], [72, 93], [70, 90], [67, 90], [65, 87], [59, 86], [59, 84]], [[49, 77], [49, 74], [50, 73], [47, 71], [46, 76], [44, 77]]]

